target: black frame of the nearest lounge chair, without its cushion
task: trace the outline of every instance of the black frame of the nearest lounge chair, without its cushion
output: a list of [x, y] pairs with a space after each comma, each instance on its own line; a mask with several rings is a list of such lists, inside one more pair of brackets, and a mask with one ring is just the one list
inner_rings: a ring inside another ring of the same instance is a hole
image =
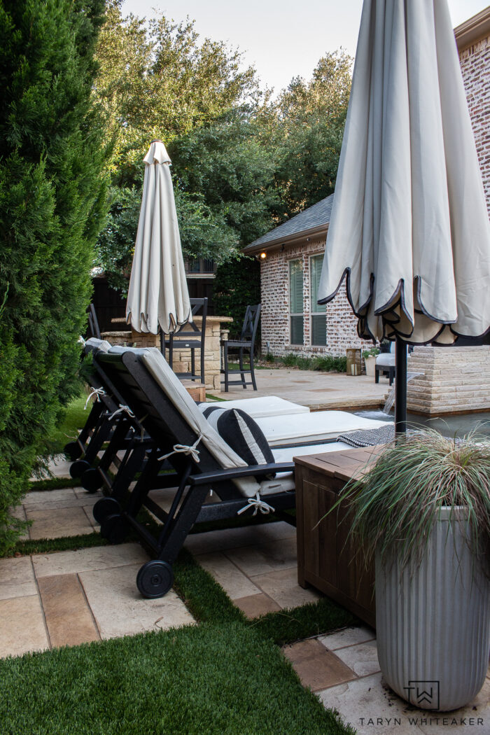
[[[146, 562], [137, 574], [137, 587], [147, 598], [165, 595], [173, 584], [172, 564], [175, 562], [187, 534], [194, 523], [234, 517], [248, 505], [248, 498], [239, 493], [233, 480], [254, 477], [258, 480], [275, 472], [292, 472], [292, 462], [222, 469], [205, 445], [199, 444], [198, 461], [192, 454], [173, 451], [174, 445], [192, 447], [198, 441], [184, 417], [159, 387], [151, 373], [134, 352], [123, 354], [99, 353], [96, 361], [115, 385], [123, 401], [138, 418], [141, 426], [154, 441], [145, 469], [136, 485], [124, 495], [112, 491], [94, 506], [94, 517], [101, 523], [101, 534], [111, 542], [122, 542], [130, 528], [137, 532], [156, 559]], [[168, 453], [167, 461], [173, 472], [162, 475], [159, 457]], [[151, 490], [176, 487], [169, 512], [162, 510], [150, 497]], [[205, 503], [213, 490], [220, 502]], [[295, 525], [295, 518], [284, 511], [295, 507], [295, 492], [265, 495], [273, 504], [273, 514]], [[158, 534], [152, 534], [137, 518], [146, 508], [162, 523]], [[253, 507], [251, 506], [251, 509]]]

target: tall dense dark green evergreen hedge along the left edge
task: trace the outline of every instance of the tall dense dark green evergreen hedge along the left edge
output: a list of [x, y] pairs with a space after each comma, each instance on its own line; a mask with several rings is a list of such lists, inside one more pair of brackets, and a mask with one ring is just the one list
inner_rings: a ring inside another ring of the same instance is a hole
[[0, 0], [0, 552], [76, 390], [106, 207], [93, 51], [104, 0]]

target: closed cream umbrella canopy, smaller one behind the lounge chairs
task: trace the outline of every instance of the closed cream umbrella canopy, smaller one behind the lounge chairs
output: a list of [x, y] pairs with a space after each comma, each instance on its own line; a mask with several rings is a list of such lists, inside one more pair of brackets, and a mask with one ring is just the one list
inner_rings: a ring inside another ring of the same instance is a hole
[[154, 140], [143, 159], [145, 179], [129, 280], [126, 321], [135, 331], [165, 334], [192, 321], [170, 157]]

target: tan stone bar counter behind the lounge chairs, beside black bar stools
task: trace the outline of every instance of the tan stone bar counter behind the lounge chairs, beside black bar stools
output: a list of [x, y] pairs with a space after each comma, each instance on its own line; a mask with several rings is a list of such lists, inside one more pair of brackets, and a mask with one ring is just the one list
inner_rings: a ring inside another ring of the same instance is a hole
[[[194, 318], [196, 326], [201, 326], [201, 317]], [[221, 390], [221, 351], [220, 351], [220, 334], [226, 330], [229, 323], [233, 319], [231, 317], [206, 316], [206, 337], [204, 343], [204, 374], [206, 376], [206, 388], [209, 390]], [[124, 318], [113, 319], [112, 322], [123, 322]], [[192, 331], [184, 326], [178, 334], [189, 332], [192, 339]], [[160, 347], [160, 335], [151, 334], [142, 331], [104, 331], [101, 334], [103, 340], [107, 340], [112, 345], [128, 345], [129, 347]], [[201, 359], [201, 351], [195, 351], [195, 367], [199, 369], [199, 360]], [[190, 350], [185, 348], [173, 350], [173, 370], [176, 373], [190, 373]]]

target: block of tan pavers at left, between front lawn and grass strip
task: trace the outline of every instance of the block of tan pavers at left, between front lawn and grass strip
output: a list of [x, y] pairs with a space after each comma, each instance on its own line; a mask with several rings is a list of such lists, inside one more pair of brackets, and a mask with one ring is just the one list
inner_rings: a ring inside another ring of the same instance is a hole
[[141, 597], [146, 561], [139, 544], [0, 559], [0, 656], [193, 623], [175, 592]]

